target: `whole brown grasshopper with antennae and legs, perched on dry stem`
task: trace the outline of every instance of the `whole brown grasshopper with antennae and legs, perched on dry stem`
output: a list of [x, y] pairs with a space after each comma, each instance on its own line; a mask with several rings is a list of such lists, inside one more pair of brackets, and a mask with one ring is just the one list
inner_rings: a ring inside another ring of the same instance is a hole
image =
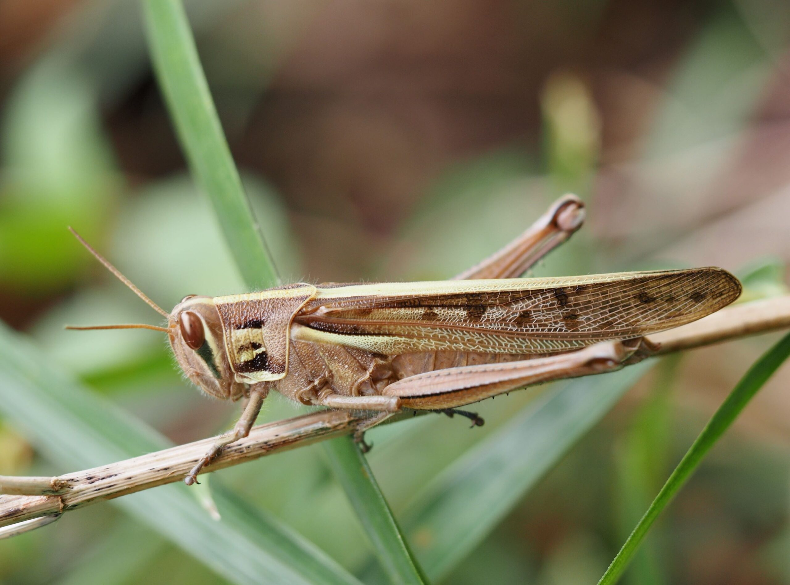
[[368, 411], [357, 431], [403, 409], [463, 414], [482, 399], [532, 384], [610, 372], [656, 350], [643, 336], [690, 323], [738, 298], [720, 268], [561, 278], [517, 278], [584, 220], [566, 195], [536, 223], [456, 279], [418, 283], [295, 283], [266, 291], [190, 294], [167, 319], [75, 329], [165, 332], [194, 384], [218, 399], [246, 399], [234, 429], [217, 437], [186, 476], [191, 485], [227, 444], [246, 437], [269, 390], [299, 403]]

